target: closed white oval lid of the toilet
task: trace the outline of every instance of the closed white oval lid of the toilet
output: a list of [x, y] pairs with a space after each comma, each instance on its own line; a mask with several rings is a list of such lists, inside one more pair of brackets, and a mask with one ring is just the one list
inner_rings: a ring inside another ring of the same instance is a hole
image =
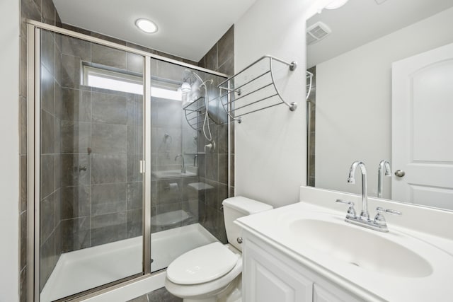
[[203, 245], [180, 255], [167, 268], [167, 278], [176, 284], [201, 284], [224, 276], [233, 269], [239, 255], [222, 243]]

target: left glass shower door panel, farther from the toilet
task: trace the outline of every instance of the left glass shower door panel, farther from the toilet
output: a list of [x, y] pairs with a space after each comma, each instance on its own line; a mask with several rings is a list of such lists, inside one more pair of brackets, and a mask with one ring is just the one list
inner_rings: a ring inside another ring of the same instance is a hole
[[40, 300], [142, 274], [144, 57], [40, 30]]

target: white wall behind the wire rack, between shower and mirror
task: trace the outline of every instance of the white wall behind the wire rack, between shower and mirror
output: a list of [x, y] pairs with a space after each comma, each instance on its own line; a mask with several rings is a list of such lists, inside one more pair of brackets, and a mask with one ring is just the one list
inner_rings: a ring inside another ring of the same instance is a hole
[[235, 23], [235, 71], [264, 54], [299, 66], [282, 95], [286, 105], [254, 112], [236, 122], [236, 195], [281, 207], [299, 200], [306, 184], [305, 15], [314, 1], [258, 0]]

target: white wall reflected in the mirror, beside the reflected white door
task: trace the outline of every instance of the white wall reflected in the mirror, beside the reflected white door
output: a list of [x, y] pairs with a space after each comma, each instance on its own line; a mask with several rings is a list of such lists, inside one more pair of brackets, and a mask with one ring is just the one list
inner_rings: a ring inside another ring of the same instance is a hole
[[391, 63], [453, 42], [452, 20], [450, 8], [316, 66], [316, 187], [360, 192], [346, 180], [361, 160], [377, 195], [379, 161], [391, 160]]

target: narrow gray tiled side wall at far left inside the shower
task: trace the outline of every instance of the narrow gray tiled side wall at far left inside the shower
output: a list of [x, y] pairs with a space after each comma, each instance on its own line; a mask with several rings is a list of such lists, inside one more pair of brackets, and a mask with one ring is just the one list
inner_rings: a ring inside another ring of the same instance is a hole
[[40, 187], [40, 288], [49, 279], [62, 253], [62, 156], [61, 118], [59, 105], [61, 39], [47, 30], [42, 31], [41, 43], [41, 187]]

